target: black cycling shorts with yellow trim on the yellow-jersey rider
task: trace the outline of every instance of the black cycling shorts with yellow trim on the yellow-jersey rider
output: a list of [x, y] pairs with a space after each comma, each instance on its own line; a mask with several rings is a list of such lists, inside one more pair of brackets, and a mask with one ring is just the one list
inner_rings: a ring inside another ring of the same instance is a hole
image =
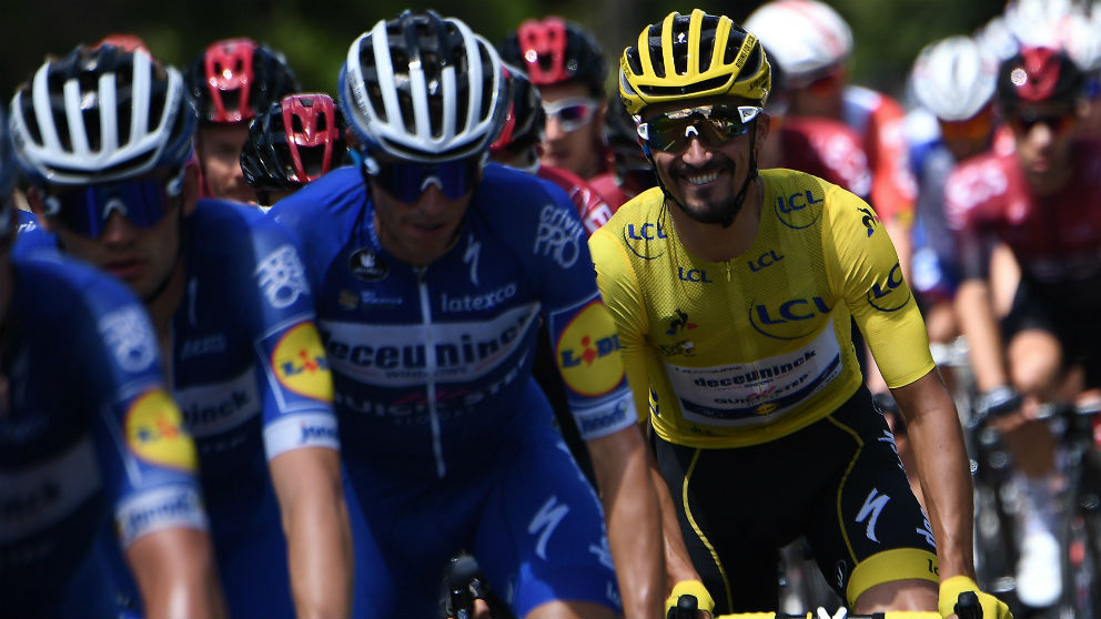
[[701, 449], [655, 437], [655, 448], [717, 615], [776, 611], [778, 552], [799, 536], [850, 607], [876, 585], [938, 580], [929, 521], [865, 387], [770, 443]]

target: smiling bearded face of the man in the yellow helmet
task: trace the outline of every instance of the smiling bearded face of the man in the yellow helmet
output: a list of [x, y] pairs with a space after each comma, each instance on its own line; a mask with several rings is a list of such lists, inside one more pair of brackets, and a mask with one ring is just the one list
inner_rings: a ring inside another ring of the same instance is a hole
[[[664, 114], [714, 103], [730, 106], [751, 105], [750, 102], [729, 98], [693, 101], [690, 106], [668, 104], [644, 110], [643, 120], [650, 122]], [[700, 119], [706, 123], [708, 120]], [[747, 132], [717, 144], [717, 139], [705, 136], [706, 126], [686, 126], [687, 145], [679, 150], [663, 151], [650, 146], [650, 156], [658, 177], [668, 195], [691, 219], [705, 224], [726, 224], [734, 221], [741, 205], [738, 193], [747, 179], [755, 173], [750, 160], [759, 159], [768, 136], [769, 118], [760, 113], [750, 121]], [[754, 155], [754, 156], [751, 156]]]

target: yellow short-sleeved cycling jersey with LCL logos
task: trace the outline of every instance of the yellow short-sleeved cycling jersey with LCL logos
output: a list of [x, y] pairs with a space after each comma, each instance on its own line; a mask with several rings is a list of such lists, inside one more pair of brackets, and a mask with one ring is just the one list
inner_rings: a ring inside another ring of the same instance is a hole
[[756, 445], [828, 415], [862, 382], [850, 317], [888, 386], [933, 368], [875, 211], [810, 174], [760, 175], [757, 237], [731, 260], [689, 254], [667, 211], [677, 206], [666, 206], [658, 187], [589, 240], [635, 404], [670, 443]]

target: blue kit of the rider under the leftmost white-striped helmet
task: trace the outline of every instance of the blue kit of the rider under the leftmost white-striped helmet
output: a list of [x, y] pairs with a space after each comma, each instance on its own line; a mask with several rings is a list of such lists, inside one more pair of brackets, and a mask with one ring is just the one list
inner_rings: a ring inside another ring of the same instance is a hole
[[199, 449], [226, 600], [236, 616], [293, 616], [267, 461], [339, 448], [314, 298], [293, 240], [256, 209], [201, 200], [184, 222], [171, 390]]

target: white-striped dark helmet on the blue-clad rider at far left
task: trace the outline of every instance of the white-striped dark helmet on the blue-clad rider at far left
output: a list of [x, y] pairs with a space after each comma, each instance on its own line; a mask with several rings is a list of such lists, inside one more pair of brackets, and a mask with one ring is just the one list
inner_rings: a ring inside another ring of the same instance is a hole
[[40, 67], [12, 99], [10, 123], [32, 180], [90, 184], [182, 166], [196, 115], [175, 69], [102, 45]]

